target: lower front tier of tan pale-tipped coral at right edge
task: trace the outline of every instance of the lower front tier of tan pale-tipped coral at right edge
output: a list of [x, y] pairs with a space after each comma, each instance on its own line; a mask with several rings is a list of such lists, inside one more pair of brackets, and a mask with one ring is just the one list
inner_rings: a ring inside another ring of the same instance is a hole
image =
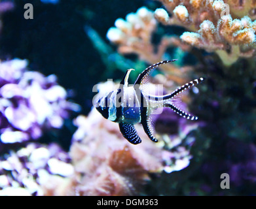
[[247, 17], [232, 20], [230, 15], [223, 16], [217, 28], [212, 22], [205, 20], [200, 25], [198, 33], [183, 33], [181, 40], [192, 46], [204, 48], [208, 52], [215, 51], [225, 65], [231, 65], [245, 54], [253, 56], [255, 50], [255, 31]]

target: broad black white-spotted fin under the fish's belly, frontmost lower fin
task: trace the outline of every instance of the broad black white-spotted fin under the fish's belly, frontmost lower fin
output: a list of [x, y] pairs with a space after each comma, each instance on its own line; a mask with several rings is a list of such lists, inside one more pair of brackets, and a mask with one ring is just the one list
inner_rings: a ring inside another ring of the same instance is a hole
[[119, 128], [122, 133], [122, 136], [126, 138], [132, 144], [139, 144], [141, 138], [137, 135], [137, 131], [134, 128], [134, 125], [129, 123], [119, 123]]

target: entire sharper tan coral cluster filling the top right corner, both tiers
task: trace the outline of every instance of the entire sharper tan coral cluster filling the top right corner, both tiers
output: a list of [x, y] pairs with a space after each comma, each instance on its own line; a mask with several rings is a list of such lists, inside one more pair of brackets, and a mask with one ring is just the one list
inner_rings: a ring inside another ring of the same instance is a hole
[[[189, 29], [191, 32], [180, 37], [187, 44], [216, 52], [227, 66], [239, 57], [255, 56], [254, 1], [163, 0], [162, 3], [172, 17], [159, 8], [155, 11], [156, 19], [165, 25]], [[253, 14], [248, 14], [248, 10]]]

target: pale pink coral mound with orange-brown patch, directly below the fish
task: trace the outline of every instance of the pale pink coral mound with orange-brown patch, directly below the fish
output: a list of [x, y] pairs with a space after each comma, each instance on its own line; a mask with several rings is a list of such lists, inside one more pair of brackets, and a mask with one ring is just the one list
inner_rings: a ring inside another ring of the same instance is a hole
[[118, 125], [102, 118], [95, 109], [88, 118], [79, 116], [75, 123], [79, 129], [70, 154], [79, 195], [132, 195], [136, 185], [149, 178], [149, 172], [162, 169], [159, 148], [149, 140], [132, 146], [122, 138]]

